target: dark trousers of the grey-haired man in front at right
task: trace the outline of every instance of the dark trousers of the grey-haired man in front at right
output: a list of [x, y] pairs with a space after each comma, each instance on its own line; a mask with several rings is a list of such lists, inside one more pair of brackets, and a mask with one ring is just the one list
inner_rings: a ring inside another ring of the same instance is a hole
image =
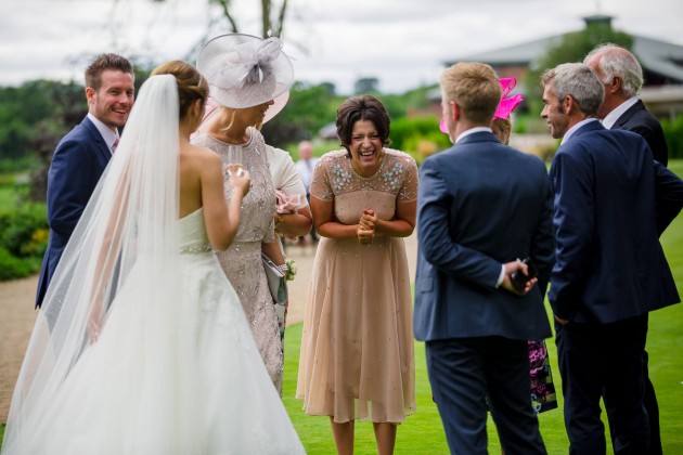
[[610, 410], [615, 454], [646, 454], [643, 404], [647, 314], [610, 324], [555, 323], [569, 453], [606, 453], [601, 396]]

